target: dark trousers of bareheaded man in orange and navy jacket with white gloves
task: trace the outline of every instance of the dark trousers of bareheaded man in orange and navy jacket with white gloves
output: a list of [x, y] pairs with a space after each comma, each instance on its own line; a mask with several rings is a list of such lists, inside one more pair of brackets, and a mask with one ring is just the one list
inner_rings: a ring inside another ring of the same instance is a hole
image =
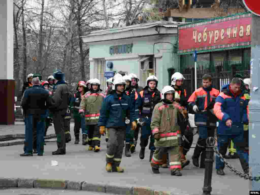
[[206, 150], [206, 139], [214, 137], [216, 127], [198, 126], [199, 139], [194, 149], [193, 158], [199, 158], [200, 153]]

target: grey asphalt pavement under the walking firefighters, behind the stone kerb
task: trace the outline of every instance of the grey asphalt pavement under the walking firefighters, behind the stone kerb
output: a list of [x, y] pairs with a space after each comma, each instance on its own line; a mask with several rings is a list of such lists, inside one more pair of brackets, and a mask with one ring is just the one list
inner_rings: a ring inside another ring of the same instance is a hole
[[[53, 156], [52, 151], [57, 149], [55, 142], [47, 143], [43, 157], [20, 157], [23, 146], [6, 146], [0, 148], [0, 177], [14, 178], [39, 178], [39, 179], [64, 179], [70, 181], [91, 181], [113, 184], [129, 184], [132, 186], [150, 187], [155, 190], [172, 191], [181, 195], [202, 194], [204, 183], [204, 169], [194, 167], [192, 163], [182, 171], [182, 177], [170, 175], [170, 170], [160, 169], [160, 174], [154, 175], [149, 163], [149, 150], [145, 151], [145, 159], [139, 159], [140, 146], [132, 157], [122, 158], [121, 166], [124, 173], [107, 173], [105, 170], [106, 142], [102, 136], [101, 151], [95, 153], [86, 150], [85, 146], [74, 144], [74, 124], [71, 124], [73, 140], [67, 144], [66, 155]], [[20, 128], [24, 129], [23, 126]], [[51, 126], [50, 128], [53, 128]], [[53, 132], [53, 129], [50, 129]], [[194, 137], [194, 143], [197, 136]], [[187, 158], [191, 159], [193, 149], [188, 152]], [[51, 166], [51, 161], [58, 161], [58, 166]], [[229, 160], [238, 170], [242, 171], [238, 159]], [[225, 168], [225, 176], [218, 176], [213, 164], [212, 195], [248, 194], [249, 181], [236, 176]], [[1, 193], [1, 192], [0, 192]]]

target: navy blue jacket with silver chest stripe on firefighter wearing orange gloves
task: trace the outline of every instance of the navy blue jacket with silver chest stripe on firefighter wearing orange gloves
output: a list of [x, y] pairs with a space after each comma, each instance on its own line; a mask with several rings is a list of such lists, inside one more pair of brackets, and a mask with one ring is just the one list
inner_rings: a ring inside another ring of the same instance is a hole
[[136, 120], [131, 97], [125, 93], [118, 97], [115, 90], [106, 96], [102, 103], [98, 126], [107, 128], [126, 128], [126, 117], [130, 122]]

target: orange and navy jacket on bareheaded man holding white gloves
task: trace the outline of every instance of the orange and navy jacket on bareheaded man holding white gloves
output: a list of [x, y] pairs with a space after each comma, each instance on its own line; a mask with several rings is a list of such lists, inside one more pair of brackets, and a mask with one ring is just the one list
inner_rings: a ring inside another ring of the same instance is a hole
[[[194, 121], [196, 126], [216, 126], [216, 118], [213, 113], [213, 105], [217, 96], [219, 95], [219, 90], [208, 87], [199, 88], [193, 92], [190, 96], [188, 103], [193, 110], [193, 106], [197, 105], [199, 111], [195, 113]], [[211, 108], [208, 109], [208, 106]]]

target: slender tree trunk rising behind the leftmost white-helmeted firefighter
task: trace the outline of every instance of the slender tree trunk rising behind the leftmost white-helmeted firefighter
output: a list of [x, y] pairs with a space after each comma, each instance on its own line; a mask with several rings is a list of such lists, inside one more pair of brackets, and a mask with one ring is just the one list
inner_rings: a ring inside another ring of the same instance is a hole
[[23, 80], [27, 81], [27, 41], [26, 41], [26, 32], [25, 32], [25, 24], [24, 24], [24, 3], [22, 0], [22, 31], [23, 31]]

